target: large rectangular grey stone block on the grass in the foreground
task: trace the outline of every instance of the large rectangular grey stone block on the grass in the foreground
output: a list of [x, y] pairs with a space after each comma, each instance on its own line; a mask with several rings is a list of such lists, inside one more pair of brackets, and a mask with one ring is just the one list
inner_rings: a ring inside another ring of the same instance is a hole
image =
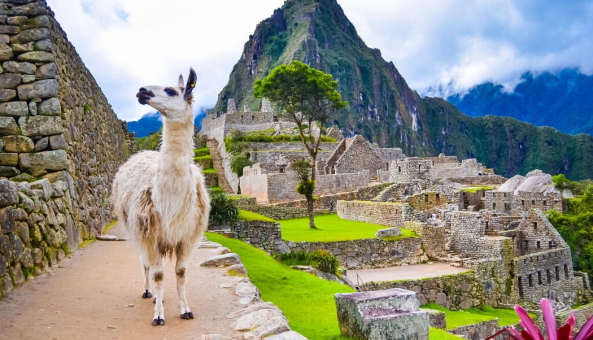
[[360, 340], [428, 340], [429, 314], [400, 288], [336, 294], [340, 331]]

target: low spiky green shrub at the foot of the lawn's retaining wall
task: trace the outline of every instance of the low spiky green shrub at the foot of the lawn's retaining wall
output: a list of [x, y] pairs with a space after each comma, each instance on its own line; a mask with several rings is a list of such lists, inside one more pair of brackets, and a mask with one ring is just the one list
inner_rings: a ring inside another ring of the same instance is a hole
[[315, 250], [314, 252], [290, 252], [284, 254], [276, 254], [274, 258], [285, 265], [305, 265], [314, 266], [322, 272], [335, 274], [341, 277], [342, 264], [337, 259], [336, 255], [327, 252], [323, 249]]

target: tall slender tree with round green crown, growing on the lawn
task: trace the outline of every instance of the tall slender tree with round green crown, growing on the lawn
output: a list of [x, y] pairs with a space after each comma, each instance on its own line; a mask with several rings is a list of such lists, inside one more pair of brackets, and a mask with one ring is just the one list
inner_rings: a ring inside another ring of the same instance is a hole
[[[311, 156], [310, 180], [313, 188], [317, 154], [321, 136], [326, 134], [326, 123], [338, 110], [346, 107], [346, 101], [341, 100], [336, 88], [337, 81], [333, 80], [331, 74], [325, 74], [299, 61], [280, 65], [266, 78], [255, 82], [256, 98], [267, 97], [297, 124], [302, 144]], [[317, 137], [313, 135], [315, 122], [319, 123], [320, 129]], [[313, 198], [313, 192], [311, 192], [311, 198]], [[307, 209], [309, 225], [314, 228], [312, 199], [307, 198]]]

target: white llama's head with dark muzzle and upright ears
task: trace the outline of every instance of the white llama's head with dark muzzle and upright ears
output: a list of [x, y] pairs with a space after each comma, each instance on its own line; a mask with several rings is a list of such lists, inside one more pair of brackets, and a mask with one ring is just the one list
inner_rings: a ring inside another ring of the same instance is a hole
[[188, 114], [193, 115], [192, 110], [187, 110], [192, 106], [192, 91], [196, 86], [196, 71], [193, 68], [189, 70], [187, 84], [183, 85], [183, 76], [179, 75], [177, 86], [144, 86], [136, 94], [139, 103], [148, 104], [154, 107], [166, 119], [183, 120]]

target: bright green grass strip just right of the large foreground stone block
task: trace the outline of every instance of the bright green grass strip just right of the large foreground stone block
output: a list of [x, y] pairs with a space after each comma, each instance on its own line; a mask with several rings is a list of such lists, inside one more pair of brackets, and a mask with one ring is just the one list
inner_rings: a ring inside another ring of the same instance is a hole
[[[481, 323], [487, 320], [492, 320], [498, 317], [499, 326], [510, 326], [519, 322], [519, 317], [512, 309], [496, 309], [489, 306], [472, 307], [464, 310], [448, 310], [445, 307], [439, 306], [436, 303], [429, 303], [423, 308], [440, 310], [445, 312], [445, 320], [447, 320], [447, 329], [455, 329], [459, 326], [470, 325], [471, 323]], [[532, 318], [534, 314], [530, 314]]]

